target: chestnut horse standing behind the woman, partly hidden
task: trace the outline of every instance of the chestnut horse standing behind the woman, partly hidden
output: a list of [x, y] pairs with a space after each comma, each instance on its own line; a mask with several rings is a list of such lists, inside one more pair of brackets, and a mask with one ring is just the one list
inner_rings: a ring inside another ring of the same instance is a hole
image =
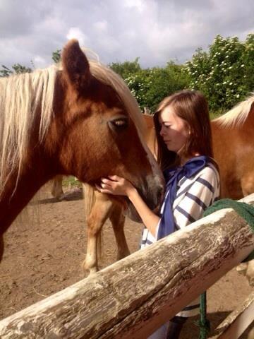
[[[147, 124], [146, 141], [152, 153], [155, 150], [155, 129], [150, 115], [143, 114]], [[212, 121], [214, 158], [221, 174], [221, 197], [240, 199], [254, 192], [254, 95], [241, 102], [226, 114]], [[54, 192], [61, 191], [61, 177], [54, 182]], [[109, 218], [117, 243], [117, 258], [129, 254], [123, 233], [124, 217], [122, 206], [114, 203], [110, 196], [100, 194], [84, 186], [87, 217], [87, 256], [84, 268], [94, 272], [97, 266], [97, 235]], [[98, 213], [100, 211], [100, 213]]]

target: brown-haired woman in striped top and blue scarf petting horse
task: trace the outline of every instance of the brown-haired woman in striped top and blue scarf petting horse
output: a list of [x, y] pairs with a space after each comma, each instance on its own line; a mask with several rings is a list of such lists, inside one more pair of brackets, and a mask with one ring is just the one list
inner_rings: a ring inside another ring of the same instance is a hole
[[[183, 90], [166, 97], [154, 116], [159, 162], [166, 192], [159, 215], [150, 210], [135, 187], [116, 175], [102, 178], [99, 191], [127, 196], [143, 220], [143, 248], [202, 218], [219, 197], [219, 173], [212, 159], [212, 137], [205, 97]], [[177, 339], [188, 316], [199, 312], [195, 300], [174, 316], [150, 339]]]

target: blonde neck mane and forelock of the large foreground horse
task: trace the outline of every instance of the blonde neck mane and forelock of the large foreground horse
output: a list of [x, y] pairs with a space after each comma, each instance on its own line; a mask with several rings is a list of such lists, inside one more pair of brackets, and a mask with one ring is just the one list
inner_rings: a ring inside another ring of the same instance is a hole
[[[116, 90], [142, 137], [145, 123], [126, 83], [99, 61], [91, 59], [89, 64], [95, 78]], [[0, 79], [0, 196], [14, 169], [18, 169], [19, 177], [28, 151], [30, 131], [40, 113], [39, 142], [43, 141], [54, 114], [54, 86], [56, 73], [60, 70], [60, 65], [54, 65], [44, 70]]]

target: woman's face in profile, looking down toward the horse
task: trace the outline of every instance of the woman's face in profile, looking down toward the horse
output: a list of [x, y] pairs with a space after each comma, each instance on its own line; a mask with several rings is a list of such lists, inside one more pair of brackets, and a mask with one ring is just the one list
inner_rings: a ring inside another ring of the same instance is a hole
[[159, 114], [159, 124], [161, 126], [160, 135], [168, 150], [179, 153], [183, 148], [189, 136], [189, 129], [186, 121], [181, 119], [174, 112], [174, 108], [170, 105], [162, 109]]

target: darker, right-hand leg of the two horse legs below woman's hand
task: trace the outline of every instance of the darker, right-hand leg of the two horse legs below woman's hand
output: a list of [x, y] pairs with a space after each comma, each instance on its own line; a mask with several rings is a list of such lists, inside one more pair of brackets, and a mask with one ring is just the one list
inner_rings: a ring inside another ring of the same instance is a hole
[[116, 237], [116, 245], [117, 245], [117, 255], [116, 260], [120, 260], [130, 254], [130, 250], [128, 249], [128, 245], [126, 242], [126, 237], [123, 231], [125, 217], [123, 215], [123, 207], [118, 203], [114, 203], [114, 207], [112, 208], [111, 215], [109, 216], [111, 221], [114, 234]]

